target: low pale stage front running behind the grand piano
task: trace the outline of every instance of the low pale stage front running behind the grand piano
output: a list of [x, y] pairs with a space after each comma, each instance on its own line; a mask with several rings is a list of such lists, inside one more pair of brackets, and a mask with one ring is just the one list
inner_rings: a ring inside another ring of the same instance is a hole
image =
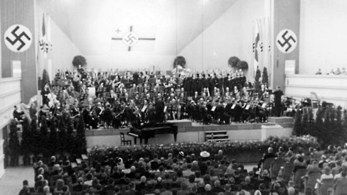
[[[173, 122], [178, 127], [177, 143], [182, 142], [205, 142], [206, 132], [223, 132], [230, 141], [246, 140], [266, 140], [270, 136], [289, 137], [293, 132], [294, 119], [290, 117], [271, 117], [267, 123], [232, 123], [232, 124], [209, 124], [204, 125], [189, 120], [168, 121]], [[102, 146], [120, 146], [120, 133], [125, 134], [125, 140], [134, 139], [126, 135], [129, 128], [121, 129], [99, 129], [86, 130], [87, 147], [96, 145]], [[168, 144], [174, 143], [173, 134], [158, 134], [149, 139], [149, 144]], [[137, 142], [139, 144], [139, 141]]]

